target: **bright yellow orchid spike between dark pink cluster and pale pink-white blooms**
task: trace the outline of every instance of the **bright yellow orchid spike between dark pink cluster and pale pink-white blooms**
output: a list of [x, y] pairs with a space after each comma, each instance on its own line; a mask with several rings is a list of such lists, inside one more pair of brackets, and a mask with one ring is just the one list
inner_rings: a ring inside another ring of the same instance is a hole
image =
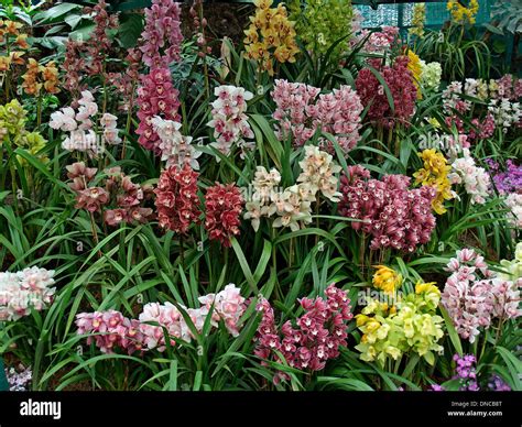
[[454, 198], [452, 184], [448, 179], [448, 173], [452, 166], [447, 164], [446, 157], [435, 149], [424, 150], [418, 153], [424, 162], [424, 167], [413, 174], [415, 184], [429, 185], [437, 190], [437, 195], [432, 201], [432, 208], [438, 215], [446, 212], [444, 200]]

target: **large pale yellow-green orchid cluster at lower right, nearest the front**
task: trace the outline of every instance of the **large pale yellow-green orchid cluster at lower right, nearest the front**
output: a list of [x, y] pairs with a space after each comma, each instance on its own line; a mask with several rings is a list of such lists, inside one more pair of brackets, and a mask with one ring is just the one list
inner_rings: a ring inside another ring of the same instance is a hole
[[417, 353], [429, 364], [443, 347], [444, 336], [441, 316], [435, 314], [441, 292], [434, 283], [417, 283], [415, 293], [406, 295], [394, 306], [370, 299], [360, 315], [357, 326], [363, 333], [356, 349], [360, 359], [377, 361], [384, 366], [388, 359], [399, 360], [403, 354]]

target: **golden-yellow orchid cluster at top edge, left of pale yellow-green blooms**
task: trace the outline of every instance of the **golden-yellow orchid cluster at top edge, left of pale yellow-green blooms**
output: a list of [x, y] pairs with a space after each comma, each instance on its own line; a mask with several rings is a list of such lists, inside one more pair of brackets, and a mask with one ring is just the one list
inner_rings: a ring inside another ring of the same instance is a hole
[[294, 22], [290, 21], [286, 8], [280, 3], [271, 8], [272, 0], [255, 0], [255, 14], [244, 31], [244, 50], [250, 59], [273, 75], [273, 59], [279, 63], [295, 62], [300, 52], [295, 43]]

